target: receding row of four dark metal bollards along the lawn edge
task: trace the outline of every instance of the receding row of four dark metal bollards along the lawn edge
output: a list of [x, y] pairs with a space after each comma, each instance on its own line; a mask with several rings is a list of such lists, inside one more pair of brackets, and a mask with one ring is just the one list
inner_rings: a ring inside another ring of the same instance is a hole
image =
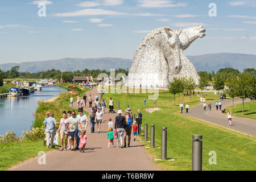
[[[144, 123], [144, 141], [147, 141], [147, 123]], [[202, 135], [192, 135], [192, 171], [202, 171]], [[151, 125], [150, 148], [155, 148], [155, 125]], [[167, 127], [162, 127], [161, 160], [167, 160]]]

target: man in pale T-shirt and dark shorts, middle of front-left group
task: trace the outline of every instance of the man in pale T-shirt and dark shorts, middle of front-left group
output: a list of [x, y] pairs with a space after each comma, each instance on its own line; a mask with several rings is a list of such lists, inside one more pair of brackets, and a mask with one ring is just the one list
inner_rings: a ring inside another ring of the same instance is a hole
[[71, 111], [72, 117], [68, 118], [67, 128], [68, 128], [68, 138], [71, 141], [70, 146], [73, 146], [71, 148], [72, 151], [76, 151], [76, 138], [78, 134], [78, 119], [76, 117], [76, 111]]

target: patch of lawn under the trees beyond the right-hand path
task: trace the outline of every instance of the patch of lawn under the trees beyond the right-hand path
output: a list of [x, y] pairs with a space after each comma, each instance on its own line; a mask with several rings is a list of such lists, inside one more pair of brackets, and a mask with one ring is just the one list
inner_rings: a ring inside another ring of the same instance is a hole
[[[243, 105], [243, 115], [242, 115], [242, 105]], [[226, 113], [232, 110], [232, 106], [226, 107]], [[256, 119], [256, 101], [245, 102], [244, 104], [234, 105], [234, 111], [232, 115], [242, 118]]]

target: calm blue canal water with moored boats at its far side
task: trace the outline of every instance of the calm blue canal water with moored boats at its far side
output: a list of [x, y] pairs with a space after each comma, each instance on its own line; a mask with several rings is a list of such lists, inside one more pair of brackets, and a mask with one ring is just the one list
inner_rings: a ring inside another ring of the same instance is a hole
[[0, 135], [8, 130], [22, 135], [22, 131], [30, 129], [35, 121], [33, 113], [38, 108], [38, 101], [48, 100], [65, 91], [59, 86], [42, 86], [41, 91], [29, 96], [0, 98]]

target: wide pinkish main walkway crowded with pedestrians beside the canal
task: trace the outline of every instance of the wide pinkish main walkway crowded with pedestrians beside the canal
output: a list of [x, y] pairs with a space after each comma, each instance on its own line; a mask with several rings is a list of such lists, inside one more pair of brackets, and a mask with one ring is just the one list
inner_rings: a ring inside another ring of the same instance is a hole
[[[90, 90], [92, 96], [97, 94], [97, 89]], [[89, 93], [86, 93], [89, 96]], [[74, 102], [76, 104], [76, 102]], [[73, 105], [74, 105], [73, 104]], [[86, 104], [84, 110], [90, 111], [91, 108]], [[106, 109], [108, 112], [108, 109]], [[11, 169], [14, 170], [91, 170], [91, 171], [155, 171], [158, 170], [150, 157], [147, 155], [141, 143], [133, 141], [131, 135], [131, 147], [129, 148], [108, 148], [107, 132], [108, 118], [114, 118], [117, 114], [103, 114], [104, 122], [101, 124], [101, 133], [90, 133], [90, 125], [87, 127], [87, 144], [85, 153], [79, 151], [59, 151], [52, 150], [46, 154], [46, 165], [38, 164], [38, 156], [29, 159]], [[98, 131], [97, 124], [95, 131]], [[43, 144], [43, 142], [42, 142]], [[117, 145], [116, 137], [114, 145]]]

